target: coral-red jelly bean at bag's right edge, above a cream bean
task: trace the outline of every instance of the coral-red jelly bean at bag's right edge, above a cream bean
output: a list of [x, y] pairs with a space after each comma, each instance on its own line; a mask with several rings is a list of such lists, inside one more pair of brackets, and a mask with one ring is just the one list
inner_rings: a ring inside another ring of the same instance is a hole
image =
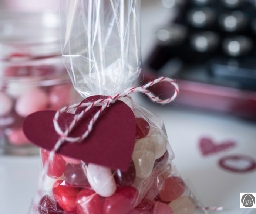
[[163, 201], [172, 201], [178, 199], [185, 191], [185, 184], [179, 177], [167, 177], [159, 193]]

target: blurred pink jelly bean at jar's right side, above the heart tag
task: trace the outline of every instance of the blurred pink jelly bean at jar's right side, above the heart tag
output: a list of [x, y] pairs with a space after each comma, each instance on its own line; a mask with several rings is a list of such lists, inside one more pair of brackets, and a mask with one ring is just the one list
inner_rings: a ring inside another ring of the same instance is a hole
[[51, 109], [58, 110], [61, 106], [67, 106], [70, 103], [70, 92], [70, 85], [54, 86], [49, 96]]

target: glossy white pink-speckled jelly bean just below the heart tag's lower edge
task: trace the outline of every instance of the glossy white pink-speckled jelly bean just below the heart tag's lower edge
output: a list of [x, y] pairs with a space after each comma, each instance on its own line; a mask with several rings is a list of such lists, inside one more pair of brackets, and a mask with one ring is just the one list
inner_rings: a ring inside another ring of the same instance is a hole
[[110, 168], [89, 163], [87, 167], [87, 179], [92, 189], [100, 196], [112, 196], [117, 189], [117, 184]]

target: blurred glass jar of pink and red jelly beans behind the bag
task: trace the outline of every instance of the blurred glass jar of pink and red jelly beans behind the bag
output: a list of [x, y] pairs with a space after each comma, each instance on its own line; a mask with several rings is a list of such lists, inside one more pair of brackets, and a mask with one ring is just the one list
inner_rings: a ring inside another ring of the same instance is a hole
[[0, 153], [38, 154], [22, 130], [36, 111], [78, 99], [62, 62], [58, 15], [0, 14]]

